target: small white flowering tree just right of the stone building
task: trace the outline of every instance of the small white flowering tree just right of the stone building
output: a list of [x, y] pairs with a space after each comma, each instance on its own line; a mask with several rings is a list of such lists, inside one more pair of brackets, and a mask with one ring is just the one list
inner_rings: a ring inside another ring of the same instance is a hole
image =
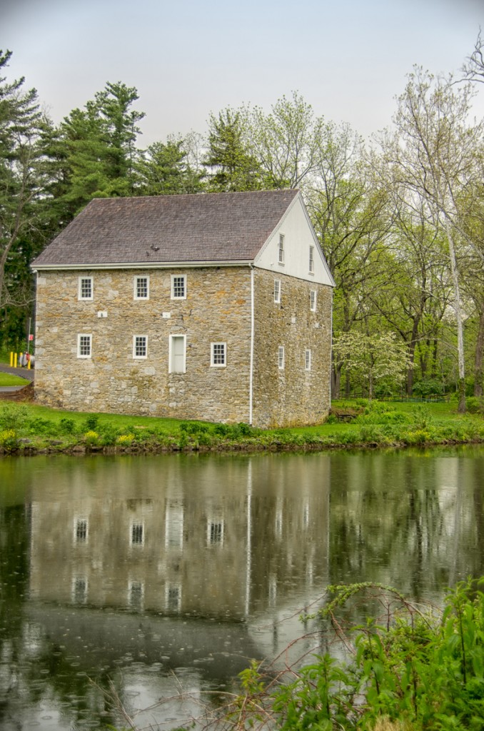
[[409, 355], [404, 343], [393, 333], [342, 333], [333, 342], [336, 361], [374, 397], [377, 383], [390, 381], [396, 385], [404, 380], [409, 368]]

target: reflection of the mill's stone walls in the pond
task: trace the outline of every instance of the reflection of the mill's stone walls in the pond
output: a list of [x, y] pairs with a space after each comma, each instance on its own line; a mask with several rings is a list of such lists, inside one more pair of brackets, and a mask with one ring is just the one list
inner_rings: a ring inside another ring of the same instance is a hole
[[327, 459], [135, 459], [36, 481], [31, 599], [240, 621], [321, 591]]

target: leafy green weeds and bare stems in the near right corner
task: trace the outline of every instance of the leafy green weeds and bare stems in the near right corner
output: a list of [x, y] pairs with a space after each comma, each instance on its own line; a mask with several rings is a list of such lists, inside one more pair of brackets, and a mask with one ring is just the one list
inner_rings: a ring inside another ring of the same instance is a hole
[[[239, 676], [238, 692], [226, 694], [216, 711], [183, 728], [481, 730], [483, 583], [459, 583], [441, 610], [414, 605], [377, 584], [330, 586], [325, 607], [313, 617], [318, 624], [314, 637], [324, 638], [330, 652], [318, 653], [315, 645], [309, 662], [282, 670], [276, 670], [277, 661], [271, 666], [252, 662]], [[374, 607], [374, 613], [349, 625], [350, 605], [353, 613], [358, 614], [358, 605]], [[119, 710], [116, 694], [110, 700]], [[121, 719], [136, 728], [124, 708]]]

